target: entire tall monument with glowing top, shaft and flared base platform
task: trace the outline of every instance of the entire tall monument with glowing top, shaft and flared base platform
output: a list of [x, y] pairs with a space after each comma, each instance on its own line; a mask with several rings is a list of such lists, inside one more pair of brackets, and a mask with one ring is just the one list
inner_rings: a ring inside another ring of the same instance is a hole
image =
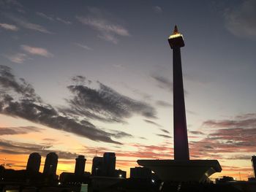
[[205, 182], [211, 174], [221, 172], [217, 160], [189, 160], [181, 47], [184, 39], [175, 26], [168, 42], [173, 50], [173, 133], [174, 160], [138, 160], [140, 166], [154, 171], [163, 181]]

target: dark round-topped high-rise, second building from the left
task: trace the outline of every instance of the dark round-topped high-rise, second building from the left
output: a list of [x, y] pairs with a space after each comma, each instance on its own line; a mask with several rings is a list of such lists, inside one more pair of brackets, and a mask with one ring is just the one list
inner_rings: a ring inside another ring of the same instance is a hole
[[45, 158], [44, 174], [56, 175], [58, 164], [58, 155], [56, 153], [48, 153]]

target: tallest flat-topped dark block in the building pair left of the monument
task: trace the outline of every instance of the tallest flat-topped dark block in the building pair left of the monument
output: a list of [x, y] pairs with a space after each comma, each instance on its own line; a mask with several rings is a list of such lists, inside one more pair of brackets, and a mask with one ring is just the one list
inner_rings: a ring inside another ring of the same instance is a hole
[[103, 166], [102, 173], [106, 177], [115, 177], [116, 170], [116, 154], [115, 153], [104, 153], [103, 155]]

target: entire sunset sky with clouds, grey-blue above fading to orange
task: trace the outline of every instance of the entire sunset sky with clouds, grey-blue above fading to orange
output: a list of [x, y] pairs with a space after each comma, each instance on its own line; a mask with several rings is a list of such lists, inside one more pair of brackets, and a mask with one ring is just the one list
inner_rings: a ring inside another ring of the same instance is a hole
[[0, 0], [0, 164], [30, 153], [173, 159], [172, 51], [181, 48], [191, 159], [247, 180], [256, 146], [256, 1]]

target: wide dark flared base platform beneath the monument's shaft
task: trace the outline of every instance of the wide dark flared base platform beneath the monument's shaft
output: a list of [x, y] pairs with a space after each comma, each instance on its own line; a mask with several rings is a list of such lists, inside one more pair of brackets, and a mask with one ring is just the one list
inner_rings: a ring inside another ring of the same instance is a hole
[[211, 174], [222, 171], [217, 160], [138, 160], [137, 163], [151, 169], [162, 181], [203, 183]]

